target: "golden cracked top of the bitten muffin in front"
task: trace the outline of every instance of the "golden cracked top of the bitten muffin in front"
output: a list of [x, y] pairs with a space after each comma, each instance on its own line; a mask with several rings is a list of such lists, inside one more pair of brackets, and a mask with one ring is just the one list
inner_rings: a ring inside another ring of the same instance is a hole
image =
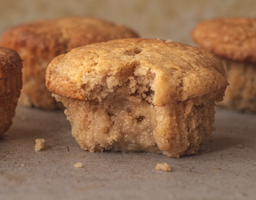
[[170, 40], [129, 38], [57, 56], [48, 65], [46, 86], [57, 95], [91, 100], [94, 92], [113, 92], [125, 77], [140, 76], [154, 92], [153, 103], [165, 105], [226, 87], [224, 73], [221, 61], [206, 50]]

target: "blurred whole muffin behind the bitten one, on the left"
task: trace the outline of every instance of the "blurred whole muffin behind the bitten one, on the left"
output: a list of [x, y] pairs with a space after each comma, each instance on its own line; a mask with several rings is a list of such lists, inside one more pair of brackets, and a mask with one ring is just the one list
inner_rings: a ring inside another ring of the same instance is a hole
[[19, 103], [56, 109], [64, 107], [56, 103], [45, 87], [45, 71], [54, 57], [86, 44], [137, 36], [122, 25], [69, 17], [10, 28], [1, 37], [0, 46], [16, 50], [23, 60], [23, 89]]

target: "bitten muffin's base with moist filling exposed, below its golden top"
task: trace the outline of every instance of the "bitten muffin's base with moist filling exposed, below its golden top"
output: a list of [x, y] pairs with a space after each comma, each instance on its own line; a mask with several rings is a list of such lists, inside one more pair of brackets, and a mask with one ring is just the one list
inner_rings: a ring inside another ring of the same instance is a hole
[[72, 135], [82, 149], [148, 152], [180, 157], [197, 153], [214, 130], [215, 101], [225, 88], [202, 97], [155, 106], [147, 96], [124, 89], [104, 100], [79, 101], [55, 95], [67, 108]]

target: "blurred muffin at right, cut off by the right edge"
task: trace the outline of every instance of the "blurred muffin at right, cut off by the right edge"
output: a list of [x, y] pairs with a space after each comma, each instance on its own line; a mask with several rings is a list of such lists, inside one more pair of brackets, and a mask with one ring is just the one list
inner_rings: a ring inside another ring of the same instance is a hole
[[219, 105], [256, 112], [256, 19], [203, 21], [194, 28], [192, 37], [199, 47], [223, 61], [230, 86]]

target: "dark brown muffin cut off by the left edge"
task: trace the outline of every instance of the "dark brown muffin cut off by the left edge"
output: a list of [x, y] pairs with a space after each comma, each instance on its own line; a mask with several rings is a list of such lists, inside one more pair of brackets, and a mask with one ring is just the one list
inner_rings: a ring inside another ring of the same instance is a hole
[[12, 125], [20, 89], [22, 64], [12, 49], [0, 47], [0, 136]]

